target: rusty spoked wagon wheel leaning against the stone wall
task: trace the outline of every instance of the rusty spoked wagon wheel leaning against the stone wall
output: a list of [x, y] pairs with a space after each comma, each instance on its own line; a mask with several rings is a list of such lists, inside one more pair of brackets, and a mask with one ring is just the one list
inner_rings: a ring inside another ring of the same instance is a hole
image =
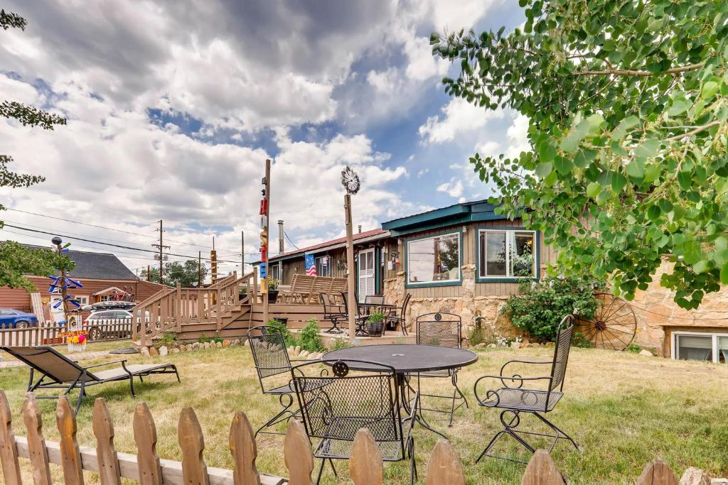
[[625, 350], [635, 337], [637, 317], [632, 306], [611, 293], [597, 293], [594, 318], [579, 318], [577, 330], [596, 348]]

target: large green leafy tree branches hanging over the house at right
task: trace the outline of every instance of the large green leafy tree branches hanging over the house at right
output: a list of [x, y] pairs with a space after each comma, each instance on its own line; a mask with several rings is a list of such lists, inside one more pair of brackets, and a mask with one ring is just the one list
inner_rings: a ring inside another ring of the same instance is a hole
[[531, 151], [475, 172], [563, 272], [631, 299], [668, 258], [660, 283], [697, 308], [728, 284], [728, 2], [519, 4], [522, 30], [432, 34], [448, 94], [529, 117]]

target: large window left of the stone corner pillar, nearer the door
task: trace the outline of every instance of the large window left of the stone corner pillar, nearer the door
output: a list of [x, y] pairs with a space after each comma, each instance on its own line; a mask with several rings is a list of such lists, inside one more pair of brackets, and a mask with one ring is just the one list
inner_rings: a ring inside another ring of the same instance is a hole
[[457, 283], [460, 281], [460, 235], [445, 234], [407, 243], [407, 281]]

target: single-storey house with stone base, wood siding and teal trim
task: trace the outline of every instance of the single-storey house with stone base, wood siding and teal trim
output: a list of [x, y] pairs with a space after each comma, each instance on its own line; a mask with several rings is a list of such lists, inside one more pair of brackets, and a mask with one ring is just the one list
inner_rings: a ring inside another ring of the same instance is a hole
[[[410, 322], [417, 315], [443, 311], [462, 316], [468, 328], [480, 315], [491, 330], [505, 337], [515, 335], [500, 314], [502, 303], [518, 292], [519, 278], [541, 278], [556, 254], [543, 244], [542, 234], [526, 231], [521, 220], [507, 220], [494, 209], [486, 201], [465, 202], [355, 234], [360, 301], [368, 294], [384, 294], [387, 302], [399, 305], [409, 293]], [[305, 254], [316, 257], [318, 274], [346, 276], [344, 238], [272, 257], [271, 275], [290, 284], [293, 274], [306, 273]], [[660, 276], [668, 270], [665, 262], [649, 289], [637, 292], [630, 303], [637, 319], [636, 342], [661, 349], [664, 356], [684, 358], [703, 349], [700, 356], [725, 361], [728, 289], [705, 295], [699, 310], [682, 310], [673, 302], [673, 294], [660, 286]]]

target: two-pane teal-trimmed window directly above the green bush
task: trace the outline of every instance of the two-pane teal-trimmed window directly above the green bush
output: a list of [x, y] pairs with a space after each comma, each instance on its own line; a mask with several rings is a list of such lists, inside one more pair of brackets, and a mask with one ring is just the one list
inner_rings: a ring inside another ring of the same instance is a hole
[[482, 229], [478, 231], [479, 278], [536, 276], [536, 233]]

